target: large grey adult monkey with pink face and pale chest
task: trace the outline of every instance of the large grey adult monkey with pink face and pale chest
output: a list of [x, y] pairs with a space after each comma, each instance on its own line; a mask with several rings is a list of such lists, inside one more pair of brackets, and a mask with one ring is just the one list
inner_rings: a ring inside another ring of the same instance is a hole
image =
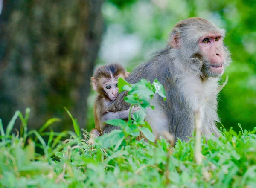
[[[219, 135], [215, 122], [217, 114], [218, 81], [230, 64], [230, 52], [223, 44], [225, 31], [208, 20], [194, 17], [180, 21], [172, 29], [166, 48], [139, 65], [126, 79], [136, 83], [142, 78], [157, 78], [166, 90], [166, 101], [159, 96], [152, 100], [155, 110], [147, 110], [146, 121], [155, 135], [162, 131], [174, 134], [175, 139], [188, 140], [194, 130], [194, 112], [201, 109], [201, 133]], [[109, 111], [129, 107], [125, 93], [113, 101]], [[116, 127], [107, 125], [103, 132]]]

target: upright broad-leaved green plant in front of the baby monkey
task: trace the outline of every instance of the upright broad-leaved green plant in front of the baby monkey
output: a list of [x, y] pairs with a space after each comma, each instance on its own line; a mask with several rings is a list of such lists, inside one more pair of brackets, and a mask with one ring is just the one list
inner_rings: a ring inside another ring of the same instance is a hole
[[[133, 142], [137, 136], [142, 133], [149, 142], [154, 142], [154, 135], [150, 125], [145, 121], [146, 108], [151, 106], [150, 100], [153, 97], [157, 97], [158, 94], [163, 100], [166, 100], [165, 90], [163, 85], [159, 81], [155, 80], [152, 84], [142, 79], [136, 84], [129, 84], [123, 78], [118, 80], [119, 93], [127, 91], [127, 96], [124, 98], [125, 102], [131, 104], [129, 111], [128, 121], [122, 119], [111, 119], [106, 121], [107, 124], [121, 127], [120, 130], [111, 131], [109, 134], [105, 134], [98, 137], [96, 140], [101, 143], [104, 148], [109, 148], [116, 145], [116, 149], [119, 146], [128, 142]], [[133, 114], [131, 119], [131, 110], [134, 106], [139, 106], [140, 110]]]

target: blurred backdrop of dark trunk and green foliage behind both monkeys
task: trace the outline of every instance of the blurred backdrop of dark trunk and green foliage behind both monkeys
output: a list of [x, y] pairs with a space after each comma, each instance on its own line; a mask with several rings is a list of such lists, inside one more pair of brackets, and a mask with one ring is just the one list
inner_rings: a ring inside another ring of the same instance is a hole
[[[32, 127], [57, 116], [63, 119], [57, 130], [71, 129], [65, 106], [90, 130], [93, 69], [117, 62], [131, 71], [166, 46], [178, 21], [203, 17], [226, 29], [224, 42], [233, 58], [222, 77], [229, 81], [219, 95], [221, 122], [236, 131], [238, 123], [250, 130], [256, 126], [255, 0], [10, 0], [2, 14], [0, 118], [5, 124], [15, 110], [31, 107]], [[23, 78], [22, 85], [15, 83]]]

